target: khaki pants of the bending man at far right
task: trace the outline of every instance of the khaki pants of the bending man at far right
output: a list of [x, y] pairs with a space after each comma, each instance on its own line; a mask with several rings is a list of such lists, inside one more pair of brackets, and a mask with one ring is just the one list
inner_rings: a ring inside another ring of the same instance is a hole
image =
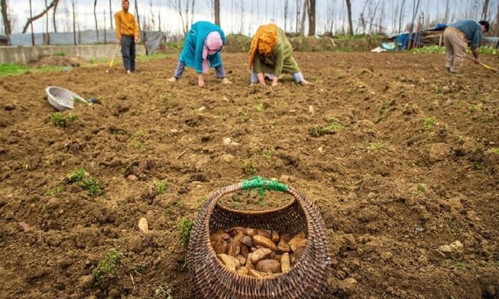
[[450, 68], [452, 73], [458, 73], [468, 48], [465, 35], [455, 28], [446, 28], [443, 31], [443, 42], [446, 44], [446, 68]]

